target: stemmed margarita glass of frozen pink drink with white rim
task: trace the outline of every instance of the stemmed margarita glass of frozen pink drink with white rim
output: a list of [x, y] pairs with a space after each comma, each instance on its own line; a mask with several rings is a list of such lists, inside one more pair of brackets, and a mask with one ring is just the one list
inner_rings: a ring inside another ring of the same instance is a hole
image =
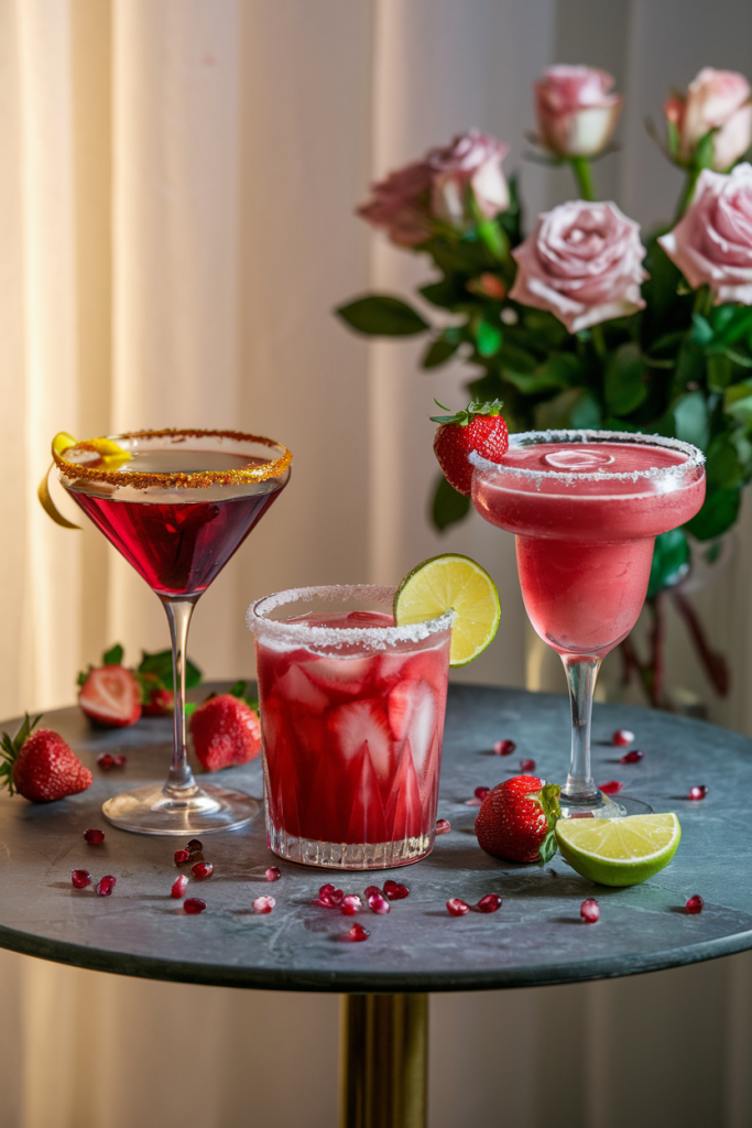
[[642, 610], [660, 532], [689, 521], [705, 499], [704, 455], [678, 439], [617, 431], [530, 431], [510, 437], [499, 465], [470, 455], [472, 502], [514, 532], [525, 610], [564, 662], [572, 705], [565, 816], [649, 810], [614, 803], [590, 764], [601, 660]]

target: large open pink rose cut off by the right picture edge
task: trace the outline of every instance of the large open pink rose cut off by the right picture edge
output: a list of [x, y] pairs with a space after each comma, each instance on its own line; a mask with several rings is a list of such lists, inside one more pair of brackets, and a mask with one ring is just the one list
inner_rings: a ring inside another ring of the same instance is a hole
[[752, 165], [727, 176], [705, 168], [692, 203], [658, 243], [693, 289], [710, 287], [716, 305], [752, 306]]

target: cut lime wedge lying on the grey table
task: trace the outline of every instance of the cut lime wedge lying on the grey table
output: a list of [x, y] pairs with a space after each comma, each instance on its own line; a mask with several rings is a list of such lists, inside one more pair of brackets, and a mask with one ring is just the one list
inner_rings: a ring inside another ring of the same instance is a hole
[[655, 876], [676, 853], [675, 814], [625, 819], [559, 819], [556, 839], [565, 862], [601, 885], [637, 885]]

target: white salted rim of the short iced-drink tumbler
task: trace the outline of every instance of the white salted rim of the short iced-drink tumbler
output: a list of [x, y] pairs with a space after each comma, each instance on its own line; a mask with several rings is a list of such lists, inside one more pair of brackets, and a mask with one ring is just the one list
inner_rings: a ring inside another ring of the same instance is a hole
[[283, 619], [268, 619], [266, 616], [278, 607], [287, 603], [312, 602], [320, 599], [334, 602], [340, 600], [366, 600], [375, 603], [393, 606], [397, 588], [382, 588], [372, 583], [334, 584], [322, 588], [289, 588], [286, 591], [275, 591], [255, 600], [246, 611], [246, 626], [264, 641], [277, 644], [304, 646], [340, 647], [352, 645], [369, 645], [374, 650], [386, 650], [399, 642], [423, 642], [441, 631], [449, 631], [454, 620], [453, 611], [444, 611], [435, 619], [423, 623], [409, 623], [401, 626], [373, 627], [321, 627], [309, 623], [290, 623]]

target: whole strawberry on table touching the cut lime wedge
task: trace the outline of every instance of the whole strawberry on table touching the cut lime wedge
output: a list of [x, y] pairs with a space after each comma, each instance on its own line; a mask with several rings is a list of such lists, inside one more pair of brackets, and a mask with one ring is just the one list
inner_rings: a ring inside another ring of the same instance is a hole
[[499, 783], [478, 811], [478, 844], [506, 862], [550, 862], [556, 854], [560, 791], [557, 784], [529, 775]]

